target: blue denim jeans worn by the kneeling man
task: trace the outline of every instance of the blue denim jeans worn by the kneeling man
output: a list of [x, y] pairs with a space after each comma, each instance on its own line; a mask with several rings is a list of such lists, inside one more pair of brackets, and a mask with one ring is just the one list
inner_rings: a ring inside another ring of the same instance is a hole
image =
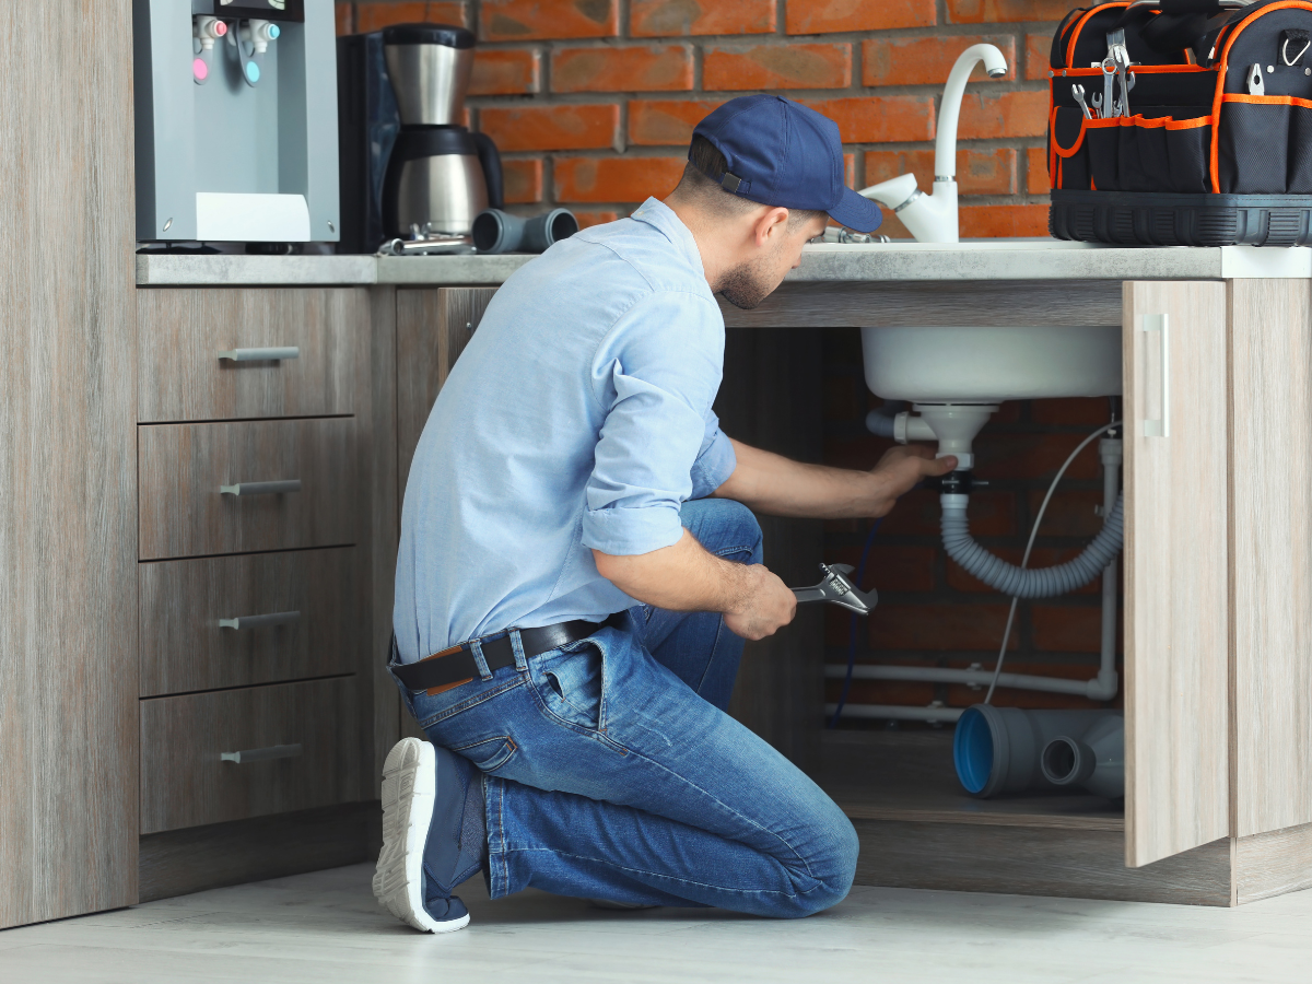
[[[761, 563], [752, 513], [682, 509], [712, 554]], [[403, 694], [433, 744], [485, 775], [488, 890], [802, 917], [848, 895], [842, 811], [726, 714], [743, 640], [715, 613], [639, 605], [626, 625], [436, 697]], [[476, 657], [482, 664], [482, 657]]]

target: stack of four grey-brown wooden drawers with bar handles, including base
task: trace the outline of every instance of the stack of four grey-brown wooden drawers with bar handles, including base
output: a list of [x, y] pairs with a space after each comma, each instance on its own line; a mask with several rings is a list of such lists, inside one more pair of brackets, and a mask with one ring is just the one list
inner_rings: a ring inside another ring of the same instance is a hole
[[371, 298], [138, 293], [140, 897], [362, 861], [384, 659]]

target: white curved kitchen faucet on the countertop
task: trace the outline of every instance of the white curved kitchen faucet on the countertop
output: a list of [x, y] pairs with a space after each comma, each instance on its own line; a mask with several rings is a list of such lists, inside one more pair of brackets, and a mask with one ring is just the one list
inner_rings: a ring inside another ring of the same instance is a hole
[[972, 45], [956, 59], [947, 75], [938, 110], [933, 192], [921, 192], [914, 174], [899, 174], [861, 192], [866, 198], [892, 209], [920, 243], [955, 243], [960, 237], [956, 220], [956, 119], [962, 112], [966, 80], [976, 62], [984, 63], [991, 79], [1006, 75], [1006, 59], [993, 45]]

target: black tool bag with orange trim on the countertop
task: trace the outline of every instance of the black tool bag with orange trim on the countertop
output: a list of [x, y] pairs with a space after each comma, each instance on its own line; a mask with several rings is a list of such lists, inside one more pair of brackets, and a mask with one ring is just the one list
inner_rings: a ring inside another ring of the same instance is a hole
[[1051, 67], [1054, 236], [1312, 243], [1312, 0], [1076, 9]]

